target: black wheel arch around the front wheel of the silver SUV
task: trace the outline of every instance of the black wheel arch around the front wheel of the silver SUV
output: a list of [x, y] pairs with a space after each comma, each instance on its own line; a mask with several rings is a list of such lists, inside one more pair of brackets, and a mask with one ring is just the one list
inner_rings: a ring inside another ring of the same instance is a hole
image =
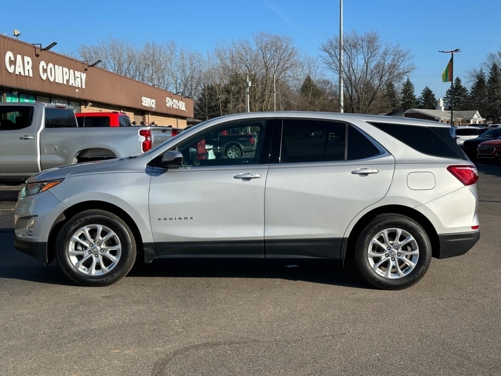
[[139, 228], [137, 227], [132, 217], [130, 217], [127, 212], [114, 204], [110, 204], [104, 201], [86, 201], [75, 204], [66, 209], [63, 213], [61, 213], [61, 215], [58, 217], [58, 220], [52, 227], [47, 244], [47, 257], [49, 263], [52, 262], [52, 260], [54, 260], [56, 257], [56, 239], [64, 224], [68, 222], [68, 220], [75, 214], [92, 209], [104, 210], [119, 216], [129, 226], [134, 235], [137, 253], [139, 255], [144, 253], [141, 232], [139, 231]]

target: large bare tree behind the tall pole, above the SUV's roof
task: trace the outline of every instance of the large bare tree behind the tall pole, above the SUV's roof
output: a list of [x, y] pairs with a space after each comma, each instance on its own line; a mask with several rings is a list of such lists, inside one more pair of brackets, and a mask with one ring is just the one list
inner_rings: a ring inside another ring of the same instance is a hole
[[[397, 43], [383, 42], [376, 31], [360, 35], [352, 31], [343, 37], [345, 110], [379, 113], [381, 97], [388, 83], [400, 83], [415, 66], [412, 55]], [[321, 45], [323, 61], [339, 77], [339, 36]]]

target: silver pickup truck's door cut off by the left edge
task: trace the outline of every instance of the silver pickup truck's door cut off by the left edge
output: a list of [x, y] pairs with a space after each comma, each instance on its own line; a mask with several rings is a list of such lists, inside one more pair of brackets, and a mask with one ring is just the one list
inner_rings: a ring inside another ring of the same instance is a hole
[[33, 106], [0, 107], [0, 172], [14, 176], [38, 170], [37, 116]]

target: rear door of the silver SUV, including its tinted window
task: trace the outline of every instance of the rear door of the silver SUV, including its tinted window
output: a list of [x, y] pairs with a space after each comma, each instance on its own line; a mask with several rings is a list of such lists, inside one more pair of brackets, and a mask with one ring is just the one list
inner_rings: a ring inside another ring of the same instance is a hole
[[354, 126], [323, 120], [284, 119], [271, 154], [266, 257], [338, 258], [349, 223], [386, 195], [395, 165]]

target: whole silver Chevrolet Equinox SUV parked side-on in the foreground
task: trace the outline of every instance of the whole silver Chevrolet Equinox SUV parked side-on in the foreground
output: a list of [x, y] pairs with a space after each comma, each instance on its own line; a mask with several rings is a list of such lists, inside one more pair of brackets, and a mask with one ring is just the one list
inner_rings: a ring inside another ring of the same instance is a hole
[[[244, 130], [254, 151], [212, 151]], [[15, 247], [84, 286], [136, 257], [347, 259], [381, 289], [479, 239], [475, 165], [449, 126], [318, 112], [228, 115], [135, 157], [41, 172], [20, 193]]]

